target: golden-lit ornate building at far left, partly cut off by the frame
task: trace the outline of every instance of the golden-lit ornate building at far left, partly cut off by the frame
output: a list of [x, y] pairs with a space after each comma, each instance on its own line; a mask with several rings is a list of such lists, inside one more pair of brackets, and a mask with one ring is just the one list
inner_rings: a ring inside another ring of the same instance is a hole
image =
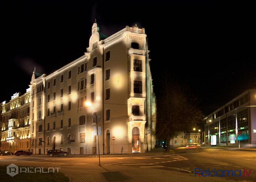
[[0, 150], [29, 150], [30, 148], [30, 88], [26, 93], [15, 93], [10, 102], [4, 101], [0, 120]]

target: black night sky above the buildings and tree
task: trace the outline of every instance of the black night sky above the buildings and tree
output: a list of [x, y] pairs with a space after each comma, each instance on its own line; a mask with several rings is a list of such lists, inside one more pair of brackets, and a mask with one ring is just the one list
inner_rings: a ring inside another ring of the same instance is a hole
[[108, 36], [144, 27], [155, 87], [168, 68], [213, 112], [256, 81], [255, 5], [190, 2], [1, 1], [0, 102], [25, 93], [34, 67], [49, 74], [82, 56], [96, 18]]

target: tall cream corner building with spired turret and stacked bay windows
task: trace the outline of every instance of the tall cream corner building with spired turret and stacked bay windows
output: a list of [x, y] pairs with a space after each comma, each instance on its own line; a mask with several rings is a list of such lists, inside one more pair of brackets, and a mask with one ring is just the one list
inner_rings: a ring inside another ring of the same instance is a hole
[[95, 22], [83, 56], [49, 75], [34, 70], [31, 150], [36, 154], [52, 148], [97, 154], [93, 115], [100, 118], [100, 154], [154, 148], [156, 97], [148, 53], [143, 28], [126, 26], [107, 37]]

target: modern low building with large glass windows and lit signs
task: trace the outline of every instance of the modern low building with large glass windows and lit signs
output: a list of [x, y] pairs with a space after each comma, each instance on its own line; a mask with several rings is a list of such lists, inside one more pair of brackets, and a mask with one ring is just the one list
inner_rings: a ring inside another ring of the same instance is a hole
[[204, 118], [205, 144], [256, 146], [256, 85]]

